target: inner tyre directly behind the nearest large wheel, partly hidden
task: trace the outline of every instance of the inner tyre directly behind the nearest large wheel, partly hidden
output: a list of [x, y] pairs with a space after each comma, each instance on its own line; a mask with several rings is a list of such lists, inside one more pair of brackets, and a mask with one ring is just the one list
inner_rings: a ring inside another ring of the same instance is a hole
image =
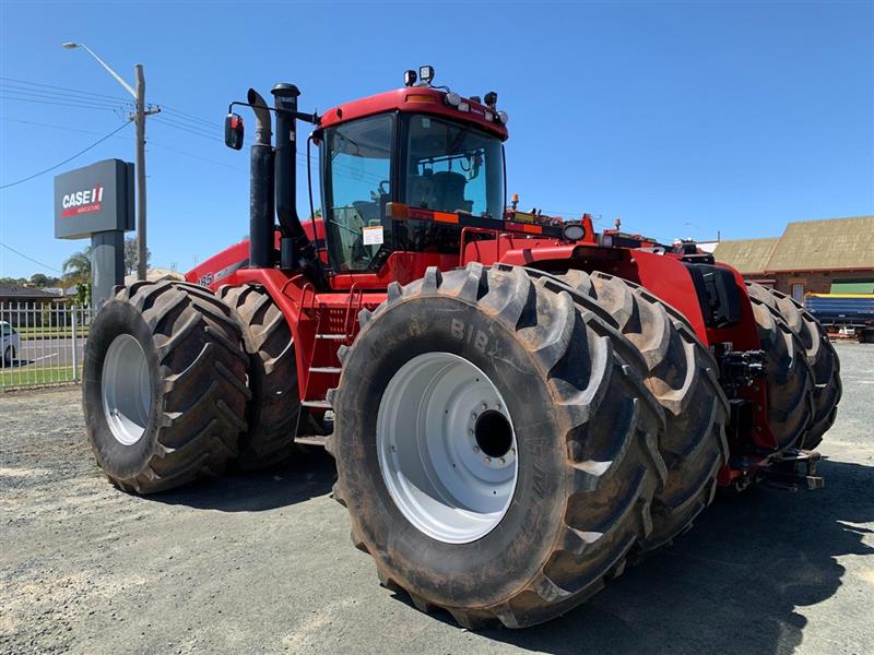
[[652, 533], [641, 548], [652, 550], [692, 526], [713, 499], [717, 474], [728, 462], [729, 402], [717, 362], [686, 319], [631, 282], [595, 272], [558, 276], [606, 309], [647, 362], [646, 384], [664, 408], [666, 428], [659, 450], [668, 484], [652, 504]]

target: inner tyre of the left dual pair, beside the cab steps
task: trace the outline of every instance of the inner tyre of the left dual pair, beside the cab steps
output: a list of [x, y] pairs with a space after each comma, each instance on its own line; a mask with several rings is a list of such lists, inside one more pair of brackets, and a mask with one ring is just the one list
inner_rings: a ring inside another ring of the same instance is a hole
[[292, 333], [263, 287], [226, 286], [218, 295], [236, 313], [250, 358], [249, 429], [240, 438], [237, 463], [246, 471], [263, 468], [295, 452], [294, 430], [302, 407]]

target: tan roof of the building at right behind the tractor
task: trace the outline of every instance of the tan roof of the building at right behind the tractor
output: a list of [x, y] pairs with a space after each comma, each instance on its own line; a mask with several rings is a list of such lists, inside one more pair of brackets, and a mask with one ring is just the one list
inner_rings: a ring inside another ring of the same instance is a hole
[[874, 270], [874, 216], [799, 221], [779, 238], [721, 241], [713, 254], [745, 274]]

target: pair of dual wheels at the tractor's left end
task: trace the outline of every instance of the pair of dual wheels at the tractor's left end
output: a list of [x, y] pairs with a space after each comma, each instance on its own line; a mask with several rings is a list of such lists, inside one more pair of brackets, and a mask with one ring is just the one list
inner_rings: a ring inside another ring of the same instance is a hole
[[97, 463], [119, 488], [151, 493], [251, 469], [293, 452], [294, 346], [263, 289], [216, 298], [198, 285], [121, 287], [85, 347], [83, 404]]

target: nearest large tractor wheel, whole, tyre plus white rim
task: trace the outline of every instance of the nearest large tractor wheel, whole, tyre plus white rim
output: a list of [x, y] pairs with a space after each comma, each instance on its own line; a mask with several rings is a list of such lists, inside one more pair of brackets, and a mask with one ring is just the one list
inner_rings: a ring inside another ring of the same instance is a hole
[[422, 610], [546, 621], [651, 533], [664, 416], [637, 349], [572, 294], [520, 267], [429, 269], [342, 350], [334, 496], [382, 584]]

